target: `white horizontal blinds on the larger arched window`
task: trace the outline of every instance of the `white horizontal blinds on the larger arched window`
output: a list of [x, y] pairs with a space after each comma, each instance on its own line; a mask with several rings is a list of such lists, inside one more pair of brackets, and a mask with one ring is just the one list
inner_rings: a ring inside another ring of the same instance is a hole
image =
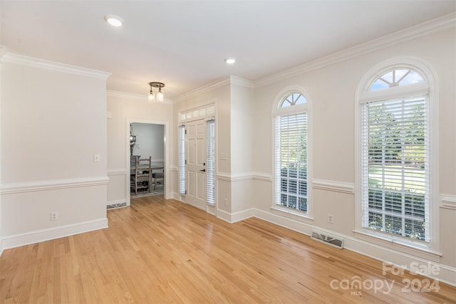
[[426, 97], [361, 105], [363, 228], [429, 241]]

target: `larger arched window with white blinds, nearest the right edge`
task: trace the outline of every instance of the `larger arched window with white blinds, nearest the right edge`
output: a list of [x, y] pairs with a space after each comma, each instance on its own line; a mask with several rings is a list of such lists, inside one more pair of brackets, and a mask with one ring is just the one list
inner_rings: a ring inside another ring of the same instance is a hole
[[428, 77], [395, 63], [358, 91], [358, 231], [423, 248], [435, 226]]

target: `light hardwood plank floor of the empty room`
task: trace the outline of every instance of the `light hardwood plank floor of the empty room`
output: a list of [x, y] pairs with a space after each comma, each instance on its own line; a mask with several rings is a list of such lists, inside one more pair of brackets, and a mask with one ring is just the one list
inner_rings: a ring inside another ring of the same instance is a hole
[[[425, 278], [383, 275], [358, 253], [161, 197], [109, 210], [108, 229], [4, 251], [0, 303], [456, 303], [449, 285], [405, 292]], [[357, 279], [361, 289], [346, 285]], [[372, 288], [380, 282], [392, 290]]]

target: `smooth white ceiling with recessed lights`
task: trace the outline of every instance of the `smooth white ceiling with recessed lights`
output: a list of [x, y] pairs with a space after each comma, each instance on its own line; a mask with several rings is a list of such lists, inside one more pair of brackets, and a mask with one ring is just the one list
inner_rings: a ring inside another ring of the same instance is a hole
[[[456, 11], [456, 1], [0, 1], [0, 44], [112, 73], [108, 90], [165, 97], [259, 80]], [[122, 17], [114, 28], [106, 14]], [[237, 58], [227, 65], [224, 58]]]

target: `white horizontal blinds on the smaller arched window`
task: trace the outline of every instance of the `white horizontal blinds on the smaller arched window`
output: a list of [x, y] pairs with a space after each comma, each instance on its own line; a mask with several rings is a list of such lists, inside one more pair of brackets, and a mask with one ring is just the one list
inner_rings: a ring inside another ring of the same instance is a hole
[[276, 117], [276, 204], [307, 211], [307, 113]]

